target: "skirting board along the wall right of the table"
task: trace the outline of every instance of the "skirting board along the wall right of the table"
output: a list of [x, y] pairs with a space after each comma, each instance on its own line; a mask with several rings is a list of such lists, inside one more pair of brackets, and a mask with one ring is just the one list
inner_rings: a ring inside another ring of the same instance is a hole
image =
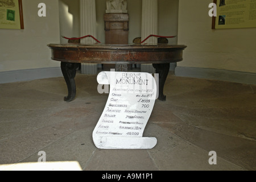
[[176, 67], [175, 75], [256, 85], [256, 73], [229, 71], [226, 69]]

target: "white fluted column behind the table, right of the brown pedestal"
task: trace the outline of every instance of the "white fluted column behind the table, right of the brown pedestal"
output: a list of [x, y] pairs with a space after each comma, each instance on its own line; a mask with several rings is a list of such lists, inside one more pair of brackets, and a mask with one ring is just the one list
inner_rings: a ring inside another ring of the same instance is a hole
[[[148, 35], [158, 35], [158, 0], [142, 0], [142, 32], [141, 40]], [[157, 44], [158, 39], [151, 37], [144, 44]], [[141, 64], [141, 71], [155, 73], [152, 64]]]

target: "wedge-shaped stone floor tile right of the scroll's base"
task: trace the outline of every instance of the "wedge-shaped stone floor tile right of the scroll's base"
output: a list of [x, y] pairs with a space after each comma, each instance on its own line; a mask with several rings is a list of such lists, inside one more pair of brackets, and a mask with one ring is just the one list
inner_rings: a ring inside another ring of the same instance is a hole
[[150, 131], [151, 135], [158, 139], [158, 144], [148, 152], [161, 171], [244, 170], [222, 159], [218, 156], [218, 152], [217, 164], [210, 165], [208, 162], [210, 150], [197, 147], [158, 126], [152, 126]]

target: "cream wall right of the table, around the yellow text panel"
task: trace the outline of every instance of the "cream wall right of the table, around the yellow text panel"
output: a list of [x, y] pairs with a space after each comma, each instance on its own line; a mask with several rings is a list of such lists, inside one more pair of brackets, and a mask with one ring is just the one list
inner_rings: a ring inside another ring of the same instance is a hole
[[256, 73], [256, 28], [212, 30], [212, 0], [179, 0], [178, 44], [188, 46], [179, 67]]

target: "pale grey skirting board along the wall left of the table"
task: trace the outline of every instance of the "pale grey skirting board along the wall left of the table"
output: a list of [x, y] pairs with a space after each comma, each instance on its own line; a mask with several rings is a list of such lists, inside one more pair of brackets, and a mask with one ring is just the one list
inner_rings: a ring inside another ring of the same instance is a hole
[[0, 72], [0, 84], [61, 76], [63, 75], [60, 67], [6, 71]]

